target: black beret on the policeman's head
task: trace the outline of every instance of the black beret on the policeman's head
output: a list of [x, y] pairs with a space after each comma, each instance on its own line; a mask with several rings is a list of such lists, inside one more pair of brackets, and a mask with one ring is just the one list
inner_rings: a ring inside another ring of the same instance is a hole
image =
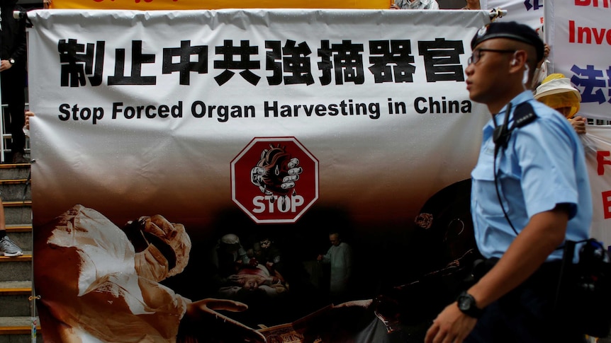
[[515, 21], [494, 22], [484, 25], [473, 36], [471, 50], [479, 43], [493, 38], [507, 38], [532, 45], [537, 50], [537, 62], [543, 59], [544, 44], [537, 32], [530, 26]]

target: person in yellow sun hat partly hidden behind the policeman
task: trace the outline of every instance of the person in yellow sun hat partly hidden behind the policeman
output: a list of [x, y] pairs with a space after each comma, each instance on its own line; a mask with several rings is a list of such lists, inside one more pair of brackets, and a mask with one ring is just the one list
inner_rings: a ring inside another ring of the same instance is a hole
[[581, 94], [563, 74], [550, 74], [543, 79], [534, 98], [564, 115], [578, 134], [585, 134], [585, 118], [576, 116]]

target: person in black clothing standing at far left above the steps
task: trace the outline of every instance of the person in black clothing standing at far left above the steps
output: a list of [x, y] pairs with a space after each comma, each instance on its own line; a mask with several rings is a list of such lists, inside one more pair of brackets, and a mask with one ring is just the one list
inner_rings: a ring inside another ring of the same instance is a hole
[[23, 11], [17, 0], [0, 0], [0, 85], [2, 103], [8, 105], [11, 134], [9, 149], [13, 163], [28, 163], [23, 157], [26, 135], [23, 133], [26, 112], [26, 21], [13, 18], [13, 11]]

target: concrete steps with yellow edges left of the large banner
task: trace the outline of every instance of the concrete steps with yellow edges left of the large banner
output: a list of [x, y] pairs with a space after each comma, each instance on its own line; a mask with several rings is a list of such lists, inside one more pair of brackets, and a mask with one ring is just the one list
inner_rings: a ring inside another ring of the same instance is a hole
[[[23, 256], [0, 256], [0, 343], [43, 342], [34, 310], [29, 164], [0, 164], [0, 196], [9, 237]], [[35, 318], [36, 329], [33, 330]]]

